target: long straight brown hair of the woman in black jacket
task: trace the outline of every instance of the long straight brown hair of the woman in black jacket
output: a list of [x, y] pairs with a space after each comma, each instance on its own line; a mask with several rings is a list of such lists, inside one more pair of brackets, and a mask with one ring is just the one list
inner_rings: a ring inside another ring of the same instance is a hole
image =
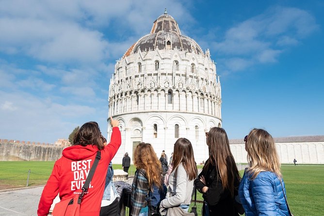
[[240, 180], [241, 177], [229, 148], [226, 131], [221, 127], [212, 127], [209, 133], [206, 133], [206, 136], [209, 160], [203, 170], [206, 172], [210, 164], [215, 166], [222, 181], [223, 189], [227, 188], [233, 197], [235, 179]]

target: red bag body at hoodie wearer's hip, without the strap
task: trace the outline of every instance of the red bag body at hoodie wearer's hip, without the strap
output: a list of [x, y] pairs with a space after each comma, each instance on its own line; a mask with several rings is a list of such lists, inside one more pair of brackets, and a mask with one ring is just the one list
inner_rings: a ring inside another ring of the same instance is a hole
[[79, 195], [60, 201], [54, 205], [52, 216], [80, 216]]

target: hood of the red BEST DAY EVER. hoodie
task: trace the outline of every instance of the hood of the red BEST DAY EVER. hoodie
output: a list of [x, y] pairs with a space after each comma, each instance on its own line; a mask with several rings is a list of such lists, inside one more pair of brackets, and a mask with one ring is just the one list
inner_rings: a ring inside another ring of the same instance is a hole
[[96, 145], [73, 145], [63, 150], [62, 154], [64, 157], [70, 160], [83, 160], [97, 154], [98, 147]]

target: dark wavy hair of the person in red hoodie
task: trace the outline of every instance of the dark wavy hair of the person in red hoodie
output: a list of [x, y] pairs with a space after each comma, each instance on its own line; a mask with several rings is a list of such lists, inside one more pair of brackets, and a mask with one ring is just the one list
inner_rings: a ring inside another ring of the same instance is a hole
[[97, 122], [84, 123], [73, 138], [73, 145], [95, 145], [98, 150], [104, 148], [104, 142], [106, 142], [106, 139], [101, 135]]

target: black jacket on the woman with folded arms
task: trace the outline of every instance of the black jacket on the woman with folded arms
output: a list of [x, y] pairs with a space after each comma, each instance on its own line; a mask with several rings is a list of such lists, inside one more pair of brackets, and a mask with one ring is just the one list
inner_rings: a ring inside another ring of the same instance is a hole
[[[206, 161], [207, 162], [207, 161]], [[205, 164], [205, 166], [207, 163]], [[205, 168], [204, 166], [204, 168]], [[203, 194], [204, 202], [208, 203], [210, 216], [238, 216], [234, 208], [234, 198], [228, 189], [223, 190], [222, 181], [216, 173], [216, 167], [209, 165], [206, 171], [201, 171], [198, 178], [194, 180], [197, 190], [202, 193], [202, 188], [208, 186], [209, 189]], [[204, 185], [199, 179], [203, 175], [206, 180]], [[238, 194], [239, 180], [234, 181], [234, 197]], [[205, 214], [205, 208], [203, 208]], [[203, 214], [203, 215], [204, 215]]]

